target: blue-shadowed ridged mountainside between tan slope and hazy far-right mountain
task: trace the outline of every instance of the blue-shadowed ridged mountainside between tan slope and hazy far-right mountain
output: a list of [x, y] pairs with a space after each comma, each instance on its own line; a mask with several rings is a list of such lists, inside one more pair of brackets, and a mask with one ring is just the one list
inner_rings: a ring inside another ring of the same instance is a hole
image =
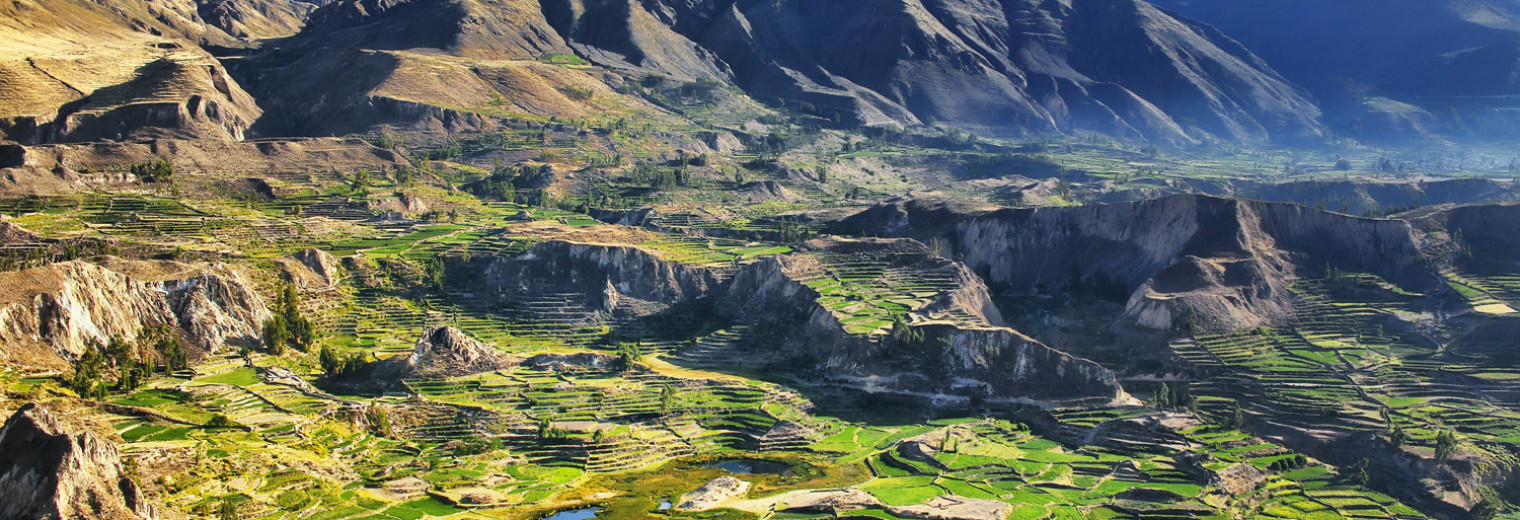
[[866, 123], [1173, 143], [1319, 132], [1318, 108], [1248, 50], [1135, 0], [772, 0], [719, 11], [699, 35], [746, 90]]

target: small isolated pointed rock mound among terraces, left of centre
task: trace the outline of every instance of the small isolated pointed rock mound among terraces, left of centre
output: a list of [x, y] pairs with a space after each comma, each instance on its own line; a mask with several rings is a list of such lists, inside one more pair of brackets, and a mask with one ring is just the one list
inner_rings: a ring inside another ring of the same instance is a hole
[[517, 365], [517, 359], [467, 336], [454, 327], [423, 331], [407, 356], [372, 365], [375, 380], [447, 379], [489, 373]]

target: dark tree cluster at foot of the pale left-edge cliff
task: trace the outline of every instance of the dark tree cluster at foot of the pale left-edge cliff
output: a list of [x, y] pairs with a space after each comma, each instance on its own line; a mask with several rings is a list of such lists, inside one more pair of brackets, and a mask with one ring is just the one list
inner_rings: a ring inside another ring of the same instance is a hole
[[[169, 327], [152, 327], [141, 333], [137, 344], [112, 336], [105, 347], [85, 348], [70, 374], [61, 377], [64, 388], [79, 397], [103, 398], [112, 392], [126, 394], [141, 388], [160, 369], [188, 368], [184, 345]], [[103, 379], [106, 369], [116, 371], [116, 382]]]

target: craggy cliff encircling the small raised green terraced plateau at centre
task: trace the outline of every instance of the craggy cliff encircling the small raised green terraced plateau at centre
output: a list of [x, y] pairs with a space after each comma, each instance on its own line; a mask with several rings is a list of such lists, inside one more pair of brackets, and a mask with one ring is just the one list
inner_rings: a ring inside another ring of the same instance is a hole
[[[821, 293], [804, 283], [818, 278], [819, 254], [883, 254], [920, 263], [915, 272], [942, 271], [955, 289], [907, 313], [912, 335], [851, 333], [847, 318], [821, 304]], [[1000, 327], [986, 286], [971, 271], [912, 240], [809, 242], [796, 254], [740, 271], [725, 309], [739, 321], [783, 330], [781, 351], [772, 351], [777, 360], [806, 359], [812, 373], [848, 386], [1029, 403], [1128, 398], [1108, 369]]]

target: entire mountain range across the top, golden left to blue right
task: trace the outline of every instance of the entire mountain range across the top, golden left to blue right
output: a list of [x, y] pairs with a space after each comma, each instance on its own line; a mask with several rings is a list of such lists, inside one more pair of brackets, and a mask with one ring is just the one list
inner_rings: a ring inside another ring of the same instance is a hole
[[1187, 146], [1508, 131], [1496, 106], [1520, 87], [1520, 8], [1403, 3], [20, 0], [0, 8], [0, 132], [456, 132], [658, 111], [622, 97], [654, 75], [836, 125], [983, 135]]

